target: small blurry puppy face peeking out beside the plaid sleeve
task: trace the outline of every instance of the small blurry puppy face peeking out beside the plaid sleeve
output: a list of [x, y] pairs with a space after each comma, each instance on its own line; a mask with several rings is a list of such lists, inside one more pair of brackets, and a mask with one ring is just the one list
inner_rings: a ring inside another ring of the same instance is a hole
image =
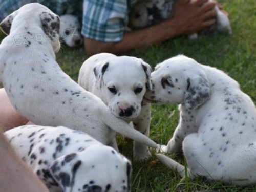
[[80, 34], [80, 24], [76, 16], [71, 14], [61, 15], [60, 17], [60, 37], [69, 47], [82, 45], [83, 39]]

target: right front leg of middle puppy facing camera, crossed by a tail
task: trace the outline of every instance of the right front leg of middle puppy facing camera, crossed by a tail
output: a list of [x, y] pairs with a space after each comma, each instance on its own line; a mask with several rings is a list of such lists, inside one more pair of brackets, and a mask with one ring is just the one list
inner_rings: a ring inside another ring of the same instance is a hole
[[[134, 127], [136, 130], [149, 137], [150, 135], [150, 121], [151, 121], [151, 109], [150, 103], [142, 102], [140, 115], [137, 117], [137, 121], [134, 121]], [[151, 157], [148, 146], [134, 141], [133, 144], [133, 158], [135, 161], [144, 161]]]

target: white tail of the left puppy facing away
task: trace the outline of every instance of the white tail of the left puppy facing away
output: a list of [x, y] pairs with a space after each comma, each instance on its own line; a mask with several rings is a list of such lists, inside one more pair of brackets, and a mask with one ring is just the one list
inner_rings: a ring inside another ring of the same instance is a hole
[[102, 119], [104, 123], [117, 133], [122, 134], [124, 137], [128, 137], [137, 142], [143, 143], [149, 147], [157, 148], [157, 144], [147, 136], [143, 135], [139, 131], [135, 130], [131, 125], [124, 120], [114, 116], [109, 110], [102, 113]]

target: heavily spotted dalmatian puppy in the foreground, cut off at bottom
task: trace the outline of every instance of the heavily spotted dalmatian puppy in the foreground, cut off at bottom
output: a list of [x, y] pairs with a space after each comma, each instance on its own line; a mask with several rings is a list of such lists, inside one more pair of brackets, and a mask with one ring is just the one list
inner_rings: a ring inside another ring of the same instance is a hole
[[25, 125], [5, 136], [49, 191], [131, 191], [130, 161], [84, 132]]

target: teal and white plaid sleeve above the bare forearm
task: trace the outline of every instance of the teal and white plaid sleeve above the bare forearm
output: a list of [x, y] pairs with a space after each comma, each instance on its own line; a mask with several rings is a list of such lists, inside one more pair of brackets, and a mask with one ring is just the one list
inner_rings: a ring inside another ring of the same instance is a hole
[[104, 42], [121, 41], [135, 0], [83, 2], [82, 35]]

